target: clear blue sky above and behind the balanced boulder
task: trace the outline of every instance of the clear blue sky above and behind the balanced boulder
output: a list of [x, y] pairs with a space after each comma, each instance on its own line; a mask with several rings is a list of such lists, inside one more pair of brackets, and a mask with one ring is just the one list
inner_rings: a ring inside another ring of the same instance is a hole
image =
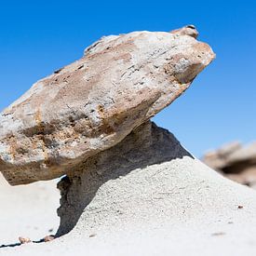
[[[83, 54], [102, 35], [195, 24], [217, 59], [155, 117], [200, 156], [227, 141], [256, 140], [254, 1], [2, 1], [0, 109]], [[94, 4], [95, 3], [95, 4]]]

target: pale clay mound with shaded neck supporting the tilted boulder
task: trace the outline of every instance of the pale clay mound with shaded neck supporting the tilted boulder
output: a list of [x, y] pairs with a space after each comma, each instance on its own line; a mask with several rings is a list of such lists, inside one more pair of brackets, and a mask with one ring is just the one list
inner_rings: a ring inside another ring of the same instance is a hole
[[[145, 130], [148, 132], [142, 132]], [[10, 256], [187, 255], [188, 251], [189, 255], [254, 255], [256, 193], [202, 164], [168, 131], [148, 124], [137, 132], [146, 134], [143, 140], [148, 143], [132, 151], [132, 155], [153, 154], [150, 141], [156, 140], [155, 152], [163, 145], [166, 156], [170, 154], [164, 162], [155, 162], [162, 157], [156, 155], [148, 166], [136, 158], [130, 163], [127, 151], [120, 157], [128, 165], [116, 166], [109, 172], [108, 166], [101, 166], [100, 157], [98, 174], [85, 170], [61, 182], [65, 189], [59, 232], [64, 231], [63, 224], [70, 222], [74, 228], [69, 234], [47, 244], [0, 252]], [[136, 133], [128, 137], [133, 141]], [[117, 147], [126, 145], [128, 141]], [[128, 168], [130, 165], [133, 168]], [[93, 196], [88, 194], [91, 190]], [[74, 222], [77, 210], [81, 215]]]

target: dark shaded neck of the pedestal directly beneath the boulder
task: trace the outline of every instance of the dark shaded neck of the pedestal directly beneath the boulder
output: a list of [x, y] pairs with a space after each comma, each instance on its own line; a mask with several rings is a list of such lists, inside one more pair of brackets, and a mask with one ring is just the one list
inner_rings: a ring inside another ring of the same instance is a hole
[[126, 176], [136, 168], [169, 162], [190, 155], [167, 129], [147, 122], [114, 147], [81, 163], [58, 184], [61, 224], [56, 236], [69, 233], [98, 189], [109, 180]]

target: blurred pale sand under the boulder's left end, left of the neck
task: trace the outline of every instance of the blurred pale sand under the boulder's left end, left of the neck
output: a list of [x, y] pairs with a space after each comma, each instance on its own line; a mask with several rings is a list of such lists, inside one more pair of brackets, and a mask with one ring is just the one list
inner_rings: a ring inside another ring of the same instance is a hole
[[[19, 236], [39, 240], [55, 234], [60, 193], [57, 181], [10, 186], [0, 176], [0, 247], [19, 243]], [[1, 249], [0, 249], [1, 253]]]

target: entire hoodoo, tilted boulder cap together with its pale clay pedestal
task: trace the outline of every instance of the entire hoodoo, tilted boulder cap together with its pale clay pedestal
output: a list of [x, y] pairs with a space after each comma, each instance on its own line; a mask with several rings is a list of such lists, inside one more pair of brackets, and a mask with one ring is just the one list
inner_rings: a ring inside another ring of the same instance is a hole
[[64, 175], [56, 239], [0, 252], [255, 255], [255, 191], [223, 178], [150, 120], [214, 59], [197, 34], [189, 25], [102, 37], [0, 115], [0, 171], [10, 184]]

